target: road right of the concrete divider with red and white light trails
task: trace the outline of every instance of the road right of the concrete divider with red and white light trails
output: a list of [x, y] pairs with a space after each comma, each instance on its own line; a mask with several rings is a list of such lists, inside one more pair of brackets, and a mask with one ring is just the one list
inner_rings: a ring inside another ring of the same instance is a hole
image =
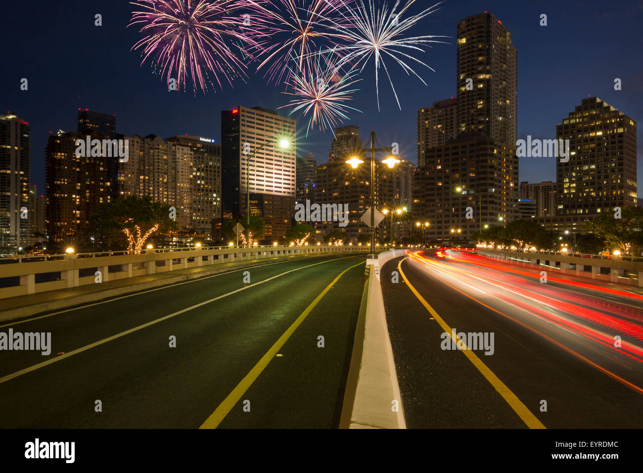
[[[410, 284], [402, 275], [392, 282], [400, 263]], [[459, 252], [385, 264], [407, 427], [643, 427], [640, 296], [554, 276], [541, 284], [529, 273]], [[468, 342], [469, 333], [493, 333], [493, 350], [453, 349], [445, 327]]]

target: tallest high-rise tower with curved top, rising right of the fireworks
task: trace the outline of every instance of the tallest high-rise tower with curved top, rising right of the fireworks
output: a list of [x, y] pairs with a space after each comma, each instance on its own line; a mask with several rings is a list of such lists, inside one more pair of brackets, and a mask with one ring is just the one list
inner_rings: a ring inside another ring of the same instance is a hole
[[511, 33], [485, 12], [460, 21], [457, 37], [458, 133], [481, 131], [515, 147], [518, 55]]

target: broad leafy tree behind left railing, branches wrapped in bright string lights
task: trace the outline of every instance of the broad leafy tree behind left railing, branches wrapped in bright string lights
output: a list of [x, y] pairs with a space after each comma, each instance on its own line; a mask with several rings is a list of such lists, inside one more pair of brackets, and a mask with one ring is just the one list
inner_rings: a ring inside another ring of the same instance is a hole
[[129, 196], [102, 203], [89, 217], [86, 233], [96, 246], [127, 246], [129, 253], [140, 254], [149, 237], [174, 229], [176, 221], [170, 219], [168, 204], [153, 202], [150, 196]]

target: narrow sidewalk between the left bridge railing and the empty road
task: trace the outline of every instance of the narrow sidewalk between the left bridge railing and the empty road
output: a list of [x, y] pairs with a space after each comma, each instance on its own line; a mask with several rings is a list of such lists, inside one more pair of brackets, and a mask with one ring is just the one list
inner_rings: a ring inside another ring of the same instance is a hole
[[[338, 253], [341, 255], [343, 253]], [[271, 258], [249, 259], [246, 261], [233, 261], [231, 263], [213, 264], [186, 268], [156, 274], [147, 274], [100, 284], [86, 284], [75, 288], [60, 289], [55, 291], [40, 292], [30, 295], [21, 295], [0, 299], [0, 322], [5, 320], [20, 319], [45, 311], [70, 308], [87, 302], [101, 301], [109, 297], [116, 297], [133, 292], [144, 291], [152, 288], [167, 286], [168, 284], [183, 283], [199, 277], [219, 274], [230, 270], [239, 270], [257, 264], [288, 261], [289, 259], [306, 259], [319, 257], [312, 255], [275, 256]]]

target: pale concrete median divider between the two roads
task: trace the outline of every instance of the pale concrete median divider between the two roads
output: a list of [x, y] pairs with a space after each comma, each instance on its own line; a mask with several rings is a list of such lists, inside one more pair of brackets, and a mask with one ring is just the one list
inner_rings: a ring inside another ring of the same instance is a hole
[[340, 429], [406, 429], [379, 283], [379, 268], [392, 257], [386, 252], [377, 265], [367, 266]]

